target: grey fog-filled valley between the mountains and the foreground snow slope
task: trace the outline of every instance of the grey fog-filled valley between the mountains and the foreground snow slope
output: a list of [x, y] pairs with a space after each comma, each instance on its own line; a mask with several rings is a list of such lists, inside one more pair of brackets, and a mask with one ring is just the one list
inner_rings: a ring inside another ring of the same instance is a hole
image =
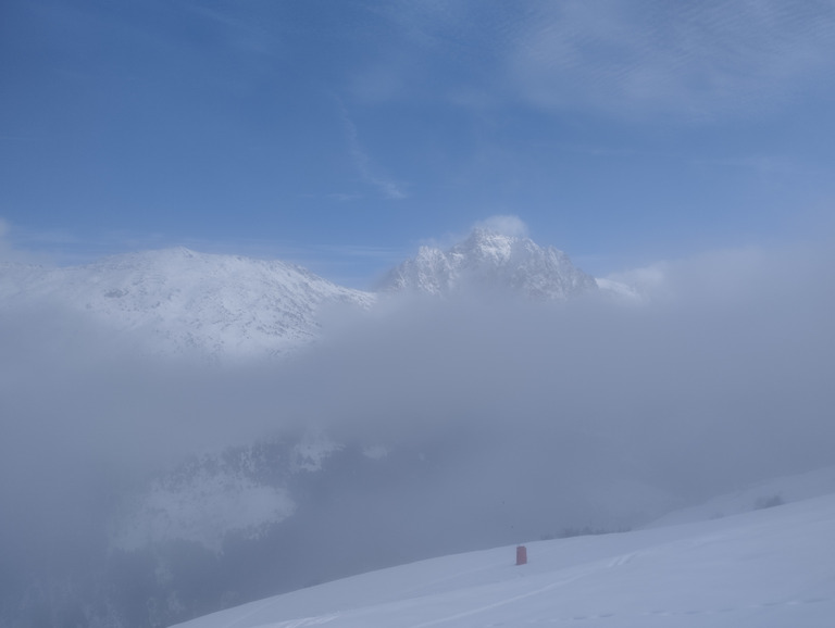
[[165, 626], [835, 464], [832, 268], [748, 251], [640, 299], [392, 298], [234, 366], [5, 309], [0, 625]]

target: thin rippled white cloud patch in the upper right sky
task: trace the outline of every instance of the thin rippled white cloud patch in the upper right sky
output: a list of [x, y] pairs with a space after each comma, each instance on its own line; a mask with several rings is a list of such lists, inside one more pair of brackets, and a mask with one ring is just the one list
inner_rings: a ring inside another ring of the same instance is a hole
[[835, 70], [835, 3], [650, 0], [540, 8], [506, 71], [544, 108], [714, 118], [802, 98]]

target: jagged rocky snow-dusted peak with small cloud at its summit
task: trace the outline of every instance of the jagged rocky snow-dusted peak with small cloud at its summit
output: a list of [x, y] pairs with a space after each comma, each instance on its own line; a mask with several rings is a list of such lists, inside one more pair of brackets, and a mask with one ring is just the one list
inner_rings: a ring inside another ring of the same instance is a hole
[[383, 279], [381, 289], [446, 296], [472, 286], [510, 289], [541, 300], [565, 299], [597, 288], [595, 279], [575, 268], [562, 251], [476, 228], [448, 251], [421, 247], [415, 258]]

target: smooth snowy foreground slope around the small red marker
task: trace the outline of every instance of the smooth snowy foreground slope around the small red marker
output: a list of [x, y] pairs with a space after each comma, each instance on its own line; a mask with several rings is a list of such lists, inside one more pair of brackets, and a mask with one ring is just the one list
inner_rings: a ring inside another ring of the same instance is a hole
[[229, 608], [188, 628], [831, 628], [835, 493], [619, 535], [459, 554]]

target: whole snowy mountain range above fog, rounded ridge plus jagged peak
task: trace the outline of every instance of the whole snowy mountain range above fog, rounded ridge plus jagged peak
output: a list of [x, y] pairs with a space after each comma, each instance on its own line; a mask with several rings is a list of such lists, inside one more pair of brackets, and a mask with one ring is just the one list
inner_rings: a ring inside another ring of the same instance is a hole
[[[448, 251], [421, 248], [381, 288], [431, 294], [488, 288], [548, 301], [597, 287], [554, 248], [476, 228]], [[73, 312], [151, 354], [285, 355], [321, 336], [323, 312], [367, 310], [376, 299], [285, 262], [182, 247], [62, 268], [0, 264], [0, 310]]]

